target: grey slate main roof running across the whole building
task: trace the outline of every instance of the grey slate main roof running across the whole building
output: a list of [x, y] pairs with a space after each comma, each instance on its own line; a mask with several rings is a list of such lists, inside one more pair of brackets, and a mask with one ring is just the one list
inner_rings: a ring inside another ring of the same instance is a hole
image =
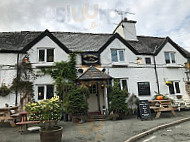
[[[68, 51], [79, 52], [98, 52], [106, 48], [107, 45], [116, 37], [120, 38], [126, 46], [131, 46], [130, 49], [135, 54], [153, 54], [155, 47], [156, 51], [161, 49], [168, 37], [150, 37], [138, 36], [138, 41], [126, 41], [121, 36], [116, 34], [92, 34], [92, 33], [72, 33], [72, 32], [49, 32], [45, 31], [22, 31], [22, 32], [0, 32], [0, 52], [21, 52], [30, 43], [35, 44], [35, 40], [42, 34], [51, 34], [59, 41], [58, 45], [65, 46], [63, 49]], [[171, 41], [171, 39], [169, 39]], [[55, 40], [54, 40], [55, 41]], [[179, 50], [185, 57], [190, 57], [190, 53], [171, 41], [175, 48]], [[31, 44], [33, 45], [33, 44]], [[28, 48], [26, 48], [28, 49]]]

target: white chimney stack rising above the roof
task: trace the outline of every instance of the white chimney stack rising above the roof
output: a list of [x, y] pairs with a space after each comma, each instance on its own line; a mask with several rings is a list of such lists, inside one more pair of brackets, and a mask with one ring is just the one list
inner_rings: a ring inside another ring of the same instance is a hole
[[138, 41], [135, 24], [136, 24], [136, 21], [132, 21], [132, 20], [128, 20], [127, 18], [124, 18], [116, 27], [113, 33], [118, 33], [125, 40]]

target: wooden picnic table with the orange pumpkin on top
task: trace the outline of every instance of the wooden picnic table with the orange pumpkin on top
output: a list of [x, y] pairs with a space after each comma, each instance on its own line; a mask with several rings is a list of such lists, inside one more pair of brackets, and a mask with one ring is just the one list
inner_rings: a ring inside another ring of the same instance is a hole
[[156, 112], [156, 117], [159, 118], [163, 111], [171, 111], [171, 113], [176, 116], [175, 108], [172, 107], [170, 100], [150, 100], [150, 109]]

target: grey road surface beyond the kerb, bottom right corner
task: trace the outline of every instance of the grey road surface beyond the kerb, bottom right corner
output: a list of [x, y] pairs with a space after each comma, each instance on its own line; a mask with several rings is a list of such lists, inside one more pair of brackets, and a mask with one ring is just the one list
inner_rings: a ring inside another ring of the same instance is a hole
[[190, 121], [157, 131], [137, 142], [190, 142]]

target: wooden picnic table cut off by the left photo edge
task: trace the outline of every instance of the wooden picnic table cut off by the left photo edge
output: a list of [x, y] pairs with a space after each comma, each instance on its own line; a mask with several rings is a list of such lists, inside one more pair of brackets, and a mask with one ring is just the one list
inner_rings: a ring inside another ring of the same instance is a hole
[[14, 120], [19, 116], [18, 114], [18, 106], [15, 107], [4, 107], [0, 108], [0, 122], [4, 122], [8, 120], [12, 127], [15, 127], [16, 124]]

